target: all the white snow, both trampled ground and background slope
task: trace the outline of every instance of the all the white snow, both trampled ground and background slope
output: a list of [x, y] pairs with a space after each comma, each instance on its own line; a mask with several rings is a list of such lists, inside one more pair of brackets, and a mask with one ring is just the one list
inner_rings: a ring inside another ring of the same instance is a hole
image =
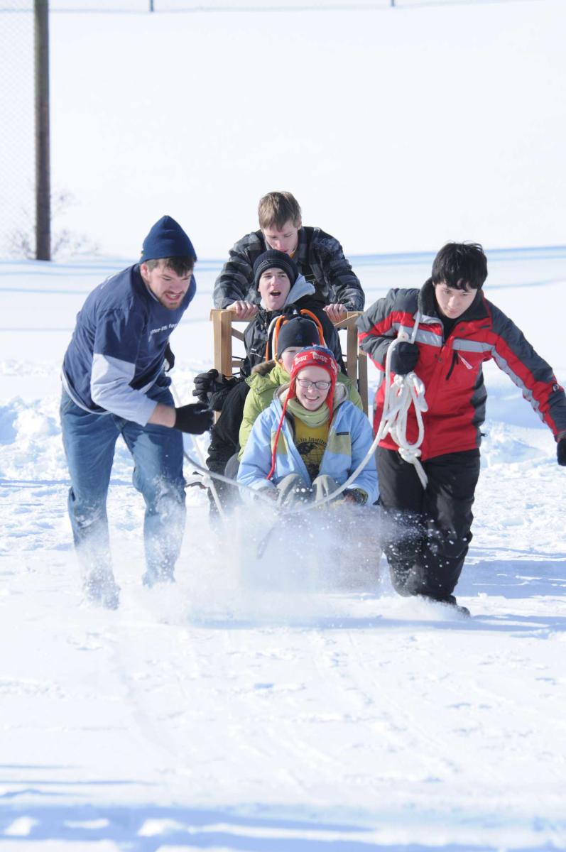
[[[85, 296], [164, 213], [201, 258], [171, 341], [190, 401], [220, 266], [202, 258], [225, 257], [281, 188], [342, 241], [368, 304], [421, 285], [448, 239], [481, 241], [488, 296], [566, 383], [566, 3], [96, 5], [51, 3], [52, 179], [77, 201], [55, 231], [102, 255], [0, 261], [0, 849], [565, 849], [566, 471], [495, 366], [457, 589], [471, 619], [395, 596], [383, 561], [357, 571], [333, 523], [299, 567], [276, 539], [258, 566], [257, 519], [218, 535], [195, 487], [176, 586], [144, 589], [120, 445], [122, 605], [85, 607], [58, 406]], [[33, 179], [32, 20], [0, 17], [3, 252]]]

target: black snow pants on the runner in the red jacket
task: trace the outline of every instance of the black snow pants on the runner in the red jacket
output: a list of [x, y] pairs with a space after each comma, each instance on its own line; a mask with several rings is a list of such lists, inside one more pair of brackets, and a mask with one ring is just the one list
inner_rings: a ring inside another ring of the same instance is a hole
[[479, 450], [427, 459], [426, 488], [396, 450], [378, 447], [377, 464], [382, 546], [394, 588], [450, 601], [471, 541]]

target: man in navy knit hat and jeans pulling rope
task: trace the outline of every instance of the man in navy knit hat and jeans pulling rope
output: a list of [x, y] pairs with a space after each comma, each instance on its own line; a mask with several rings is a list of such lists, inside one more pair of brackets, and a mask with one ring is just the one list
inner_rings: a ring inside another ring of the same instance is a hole
[[171, 331], [196, 291], [196, 254], [170, 216], [156, 222], [140, 262], [90, 293], [63, 360], [61, 429], [71, 475], [68, 508], [88, 601], [118, 607], [108, 541], [107, 492], [122, 435], [146, 504], [148, 586], [174, 579], [185, 523], [182, 432], [200, 435], [212, 414], [175, 407], [164, 362]]

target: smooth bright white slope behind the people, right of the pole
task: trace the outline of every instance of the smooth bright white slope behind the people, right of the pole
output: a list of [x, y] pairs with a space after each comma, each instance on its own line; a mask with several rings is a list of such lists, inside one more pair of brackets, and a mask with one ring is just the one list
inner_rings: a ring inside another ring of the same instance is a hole
[[288, 189], [347, 254], [563, 244], [563, 0], [280, 5], [54, 12], [59, 225], [135, 257], [169, 213], [222, 258]]

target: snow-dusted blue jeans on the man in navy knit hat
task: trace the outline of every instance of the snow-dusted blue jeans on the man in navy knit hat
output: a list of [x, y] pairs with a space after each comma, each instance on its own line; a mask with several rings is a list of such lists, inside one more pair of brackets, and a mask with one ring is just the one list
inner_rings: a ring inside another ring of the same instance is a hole
[[[174, 406], [165, 377], [147, 396]], [[111, 413], [91, 414], [77, 406], [63, 390], [61, 429], [71, 475], [68, 509], [72, 536], [86, 572], [112, 577], [108, 538], [107, 493], [114, 447], [122, 435], [135, 469], [133, 483], [146, 503], [143, 537], [147, 573], [153, 584], [172, 579], [185, 527], [185, 481], [182, 475], [182, 433], [165, 426], [140, 426]]]

